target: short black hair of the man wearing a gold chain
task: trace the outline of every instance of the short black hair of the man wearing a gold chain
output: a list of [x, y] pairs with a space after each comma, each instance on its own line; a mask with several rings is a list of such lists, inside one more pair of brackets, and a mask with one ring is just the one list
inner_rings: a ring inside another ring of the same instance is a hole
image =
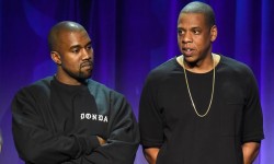
[[209, 27], [215, 25], [215, 13], [213, 8], [204, 2], [190, 2], [181, 10], [180, 14], [181, 13], [202, 13], [204, 14]]

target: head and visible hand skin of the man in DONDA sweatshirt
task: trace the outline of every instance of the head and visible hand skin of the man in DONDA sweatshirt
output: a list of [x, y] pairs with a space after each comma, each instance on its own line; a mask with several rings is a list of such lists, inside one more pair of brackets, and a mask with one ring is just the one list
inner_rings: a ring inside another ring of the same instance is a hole
[[[72, 26], [71, 30], [68, 27]], [[62, 30], [64, 28], [64, 30]], [[57, 65], [56, 79], [65, 84], [81, 85], [93, 70], [93, 48], [87, 31], [72, 22], [54, 30], [52, 59]], [[58, 31], [58, 33], [57, 33]], [[98, 137], [100, 144], [105, 140]]]

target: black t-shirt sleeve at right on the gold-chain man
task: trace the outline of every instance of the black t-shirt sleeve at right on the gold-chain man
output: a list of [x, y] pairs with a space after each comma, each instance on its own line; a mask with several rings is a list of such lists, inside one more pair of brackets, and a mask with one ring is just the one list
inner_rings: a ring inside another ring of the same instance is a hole
[[260, 103], [260, 95], [255, 78], [249, 70], [250, 78], [247, 87], [247, 101], [243, 113], [243, 132], [242, 142], [261, 141], [264, 138], [263, 133], [263, 116]]

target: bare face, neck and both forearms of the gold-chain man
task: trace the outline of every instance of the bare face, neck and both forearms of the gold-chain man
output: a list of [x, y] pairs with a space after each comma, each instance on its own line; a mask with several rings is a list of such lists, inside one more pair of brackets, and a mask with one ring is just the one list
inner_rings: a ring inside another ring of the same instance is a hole
[[[176, 58], [178, 62], [186, 70], [195, 73], [210, 71], [220, 59], [219, 55], [212, 52], [212, 43], [216, 37], [217, 26], [209, 26], [203, 13], [180, 13], [178, 45], [183, 55]], [[252, 164], [259, 149], [260, 143], [258, 142], [243, 143], [243, 164]], [[160, 148], [144, 149], [145, 157], [149, 164], [156, 164], [159, 150]]]

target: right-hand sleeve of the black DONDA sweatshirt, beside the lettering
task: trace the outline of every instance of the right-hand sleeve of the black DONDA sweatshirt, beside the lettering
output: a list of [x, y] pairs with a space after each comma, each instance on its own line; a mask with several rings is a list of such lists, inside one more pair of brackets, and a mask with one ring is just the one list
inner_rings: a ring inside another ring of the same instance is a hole
[[139, 145], [139, 129], [132, 107], [124, 96], [111, 101], [110, 117], [106, 144], [85, 155], [84, 161], [95, 164], [134, 163]]

